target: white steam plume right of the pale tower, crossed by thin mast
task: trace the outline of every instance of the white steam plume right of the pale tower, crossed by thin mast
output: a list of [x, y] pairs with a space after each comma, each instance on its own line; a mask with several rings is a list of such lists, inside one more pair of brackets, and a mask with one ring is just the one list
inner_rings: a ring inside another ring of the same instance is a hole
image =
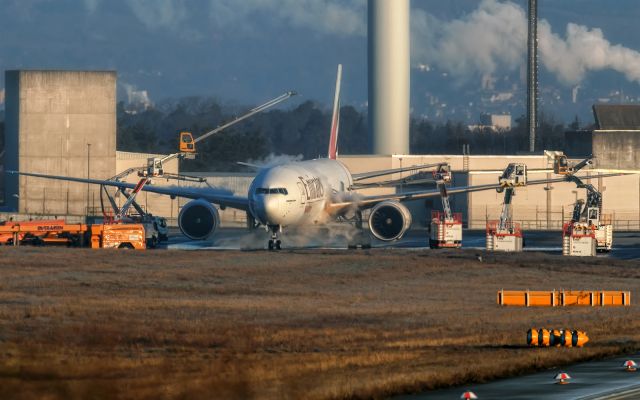
[[[542, 65], [563, 83], [579, 83], [589, 71], [604, 69], [640, 82], [640, 52], [612, 45], [600, 29], [570, 23], [563, 38], [540, 20], [538, 36]], [[453, 21], [412, 12], [414, 64], [436, 65], [458, 79], [519, 68], [526, 41], [526, 11], [510, 1], [483, 0], [475, 11]]]

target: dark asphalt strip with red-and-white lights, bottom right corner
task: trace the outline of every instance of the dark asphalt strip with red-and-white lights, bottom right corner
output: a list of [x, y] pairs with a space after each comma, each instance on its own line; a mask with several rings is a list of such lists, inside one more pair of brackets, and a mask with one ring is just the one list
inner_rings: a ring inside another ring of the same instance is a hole
[[[553, 351], [553, 349], [549, 349]], [[580, 349], [575, 349], [580, 351]], [[546, 400], [613, 400], [640, 399], [640, 372], [628, 372], [622, 364], [633, 359], [640, 362], [640, 354], [576, 364], [565, 369], [550, 369], [545, 372], [518, 378], [498, 380], [480, 385], [468, 385], [426, 392], [417, 395], [399, 396], [394, 399], [458, 399], [470, 390], [478, 399], [546, 399]], [[560, 371], [571, 376], [566, 385], [558, 385], [554, 379]]]

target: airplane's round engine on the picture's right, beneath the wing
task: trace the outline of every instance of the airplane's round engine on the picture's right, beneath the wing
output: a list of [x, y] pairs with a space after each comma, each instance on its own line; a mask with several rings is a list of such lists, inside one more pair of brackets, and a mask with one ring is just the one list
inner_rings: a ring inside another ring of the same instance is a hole
[[402, 238], [411, 226], [411, 213], [397, 201], [377, 204], [369, 216], [369, 229], [373, 236], [385, 242]]

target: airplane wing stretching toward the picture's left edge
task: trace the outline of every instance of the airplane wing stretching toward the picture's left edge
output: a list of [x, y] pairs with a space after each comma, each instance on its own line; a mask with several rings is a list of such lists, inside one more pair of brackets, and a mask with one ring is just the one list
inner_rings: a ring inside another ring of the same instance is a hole
[[[9, 174], [17, 174], [22, 176], [32, 176], [35, 178], [45, 179], [57, 179], [61, 181], [79, 182], [79, 183], [91, 183], [94, 185], [112, 186], [121, 189], [133, 189], [135, 183], [101, 180], [101, 179], [86, 179], [86, 178], [73, 178], [68, 176], [57, 175], [45, 175], [34, 174], [30, 172], [18, 172], [7, 171]], [[146, 185], [142, 188], [142, 191], [150, 193], [164, 194], [171, 197], [184, 197], [187, 199], [205, 199], [210, 203], [218, 204], [220, 207], [231, 207], [238, 210], [249, 210], [249, 199], [247, 197], [235, 196], [231, 191], [227, 189], [216, 188], [197, 188], [197, 187], [184, 187], [184, 186], [154, 186]]]

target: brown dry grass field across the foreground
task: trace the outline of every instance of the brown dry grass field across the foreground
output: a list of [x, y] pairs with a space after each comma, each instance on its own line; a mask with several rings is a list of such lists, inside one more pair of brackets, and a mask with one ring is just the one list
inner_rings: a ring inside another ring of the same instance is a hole
[[[0, 248], [0, 398], [380, 398], [640, 349], [638, 306], [501, 308], [504, 289], [640, 289], [637, 262], [474, 251]], [[583, 349], [524, 346], [529, 327]]]

